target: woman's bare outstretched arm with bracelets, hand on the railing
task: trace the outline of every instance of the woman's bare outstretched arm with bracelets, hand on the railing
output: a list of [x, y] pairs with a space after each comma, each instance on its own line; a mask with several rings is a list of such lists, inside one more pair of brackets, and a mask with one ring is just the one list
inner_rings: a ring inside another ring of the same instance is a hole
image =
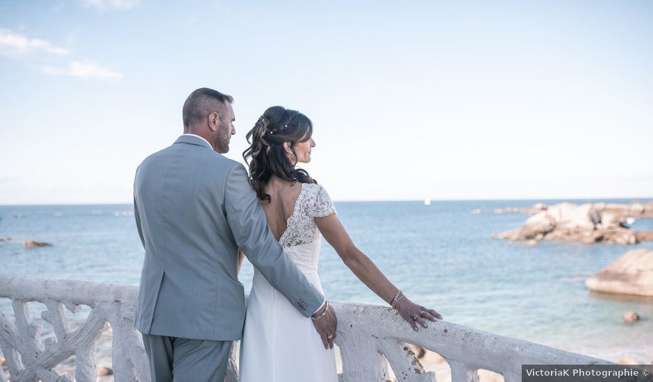
[[[340, 219], [338, 219], [336, 214], [327, 215], [325, 217], [315, 217], [315, 224], [317, 224], [317, 228], [320, 229], [324, 238], [327, 239], [327, 242], [331, 244], [333, 249], [336, 249], [338, 256], [342, 258], [342, 261], [352, 270], [352, 272], [354, 272], [356, 277], [363, 281], [363, 283], [367, 285], [367, 288], [370, 288], [372, 292], [376, 293], [381, 297], [381, 299], [390, 304], [397, 293], [397, 287], [390, 283], [388, 278], [386, 278], [381, 270], [374, 265], [370, 258], [365, 256], [360, 249], [356, 248], [352, 238], [349, 238], [349, 234], [345, 230], [345, 227], [340, 223]], [[418, 304], [413, 304], [408, 297], [400, 299], [397, 304], [395, 304], [395, 308], [397, 308], [399, 314], [402, 315], [411, 326], [413, 326], [415, 331], [418, 330], [418, 326], [415, 322], [419, 322], [424, 326], [424, 328], [427, 327], [423, 318], [431, 321], [442, 319], [442, 316], [435, 310], [424, 308], [424, 306]]]

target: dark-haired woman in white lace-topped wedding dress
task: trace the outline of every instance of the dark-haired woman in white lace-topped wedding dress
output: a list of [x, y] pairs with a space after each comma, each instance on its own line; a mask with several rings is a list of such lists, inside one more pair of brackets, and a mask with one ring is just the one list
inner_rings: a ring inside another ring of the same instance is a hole
[[[251, 185], [265, 210], [274, 237], [297, 267], [322, 291], [317, 275], [322, 235], [349, 269], [418, 330], [418, 324], [442, 319], [435, 310], [413, 304], [358, 250], [336, 216], [327, 190], [298, 169], [311, 161], [313, 124], [305, 115], [281, 106], [268, 108], [247, 133], [243, 153]], [[240, 261], [242, 261], [240, 254]], [[327, 307], [328, 309], [328, 307]], [[240, 349], [241, 382], [337, 382], [336, 358], [306, 319], [254, 269], [245, 331]]]

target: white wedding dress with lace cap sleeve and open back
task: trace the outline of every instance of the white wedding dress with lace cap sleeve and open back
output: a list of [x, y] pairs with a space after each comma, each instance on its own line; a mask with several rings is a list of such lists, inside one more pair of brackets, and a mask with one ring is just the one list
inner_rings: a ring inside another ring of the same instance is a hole
[[[308, 281], [322, 291], [317, 276], [322, 235], [315, 217], [336, 213], [321, 185], [302, 183], [295, 210], [279, 243], [304, 272]], [[245, 332], [240, 347], [240, 382], [337, 382], [336, 356], [324, 349], [311, 319], [272, 288], [254, 269]]]

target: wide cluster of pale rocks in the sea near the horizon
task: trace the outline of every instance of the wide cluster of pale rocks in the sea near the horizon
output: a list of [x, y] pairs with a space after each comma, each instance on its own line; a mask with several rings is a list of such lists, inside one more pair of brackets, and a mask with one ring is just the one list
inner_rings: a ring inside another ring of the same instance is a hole
[[652, 218], [653, 203], [648, 204], [572, 204], [554, 206], [536, 204], [539, 210], [518, 229], [493, 235], [507, 240], [571, 240], [592, 244], [636, 244], [653, 240], [653, 231], [637, 233], [629, 228], [634, 219]]

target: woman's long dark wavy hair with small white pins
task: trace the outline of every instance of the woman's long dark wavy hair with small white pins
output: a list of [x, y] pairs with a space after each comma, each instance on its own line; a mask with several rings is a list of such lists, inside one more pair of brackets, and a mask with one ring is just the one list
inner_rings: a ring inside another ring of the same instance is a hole
[[312, 134], [313, 122], [306, 115], [281, 106], [265, 110], [247, 133], [249, 147], [242, 153], [249, 164], [249, 182], [258, 199], [271, 200], [265, 186], [273, 176], [289, 182], [317, 183], [305, 169], [295, 168], [296, 162], [290, 163], [283, 147], [284, 142], [290, 142], [292, 158], [297, 158], [295, 143], [306, 142]]

